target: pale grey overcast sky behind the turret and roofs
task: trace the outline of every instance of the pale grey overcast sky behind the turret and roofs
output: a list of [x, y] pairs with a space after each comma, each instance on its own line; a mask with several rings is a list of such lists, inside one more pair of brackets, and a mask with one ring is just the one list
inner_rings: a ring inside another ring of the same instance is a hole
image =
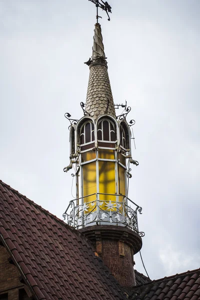
[[[198, 268], [200, 1], [108, 2], [113, 98], [136, 121], [129, 197], [143, 208], [146, 269], [154, 279]], [[82, 116], [94, 23], [88, 0], [0, 0], [0, 177], [60, 218], [72, 198], [64, 113]]]

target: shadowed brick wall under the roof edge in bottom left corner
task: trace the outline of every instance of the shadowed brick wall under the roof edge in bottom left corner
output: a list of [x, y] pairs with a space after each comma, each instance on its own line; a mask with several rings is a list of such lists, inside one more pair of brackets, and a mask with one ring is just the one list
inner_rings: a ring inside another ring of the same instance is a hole
[[[0, 295], [8, 293], [8, 300], [22, 300], [22, 297], [19, 298], [19, 289], [27, 290], [27, 287], [19, 281], [20, 274], [16, 266], [9, 263], [8, 258], [9, 253], [0, 245]], [[24, 300], [29, 299], [26, 292], [22, 293]]]

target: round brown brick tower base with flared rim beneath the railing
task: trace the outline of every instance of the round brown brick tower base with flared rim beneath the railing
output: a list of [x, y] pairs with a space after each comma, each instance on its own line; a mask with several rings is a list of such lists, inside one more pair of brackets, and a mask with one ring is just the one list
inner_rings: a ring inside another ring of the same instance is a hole
[[141, 249], [141, 237], [134, 231], [115, 225], [94, 225], [78, 231], [90, 239], [98, 255], [120, 285], [135, 285], [133, 254]]

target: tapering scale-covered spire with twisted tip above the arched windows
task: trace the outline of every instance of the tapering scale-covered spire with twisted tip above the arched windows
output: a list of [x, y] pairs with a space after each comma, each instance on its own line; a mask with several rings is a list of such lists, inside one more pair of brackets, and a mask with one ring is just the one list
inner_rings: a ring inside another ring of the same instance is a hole
[[92, 56], [89, 65], [85, 110], [94, 119], [101, 114], [115, 115], [114, 102], [107, 72], [107, 61], [104, 53], [100, 24], [94, 27]]

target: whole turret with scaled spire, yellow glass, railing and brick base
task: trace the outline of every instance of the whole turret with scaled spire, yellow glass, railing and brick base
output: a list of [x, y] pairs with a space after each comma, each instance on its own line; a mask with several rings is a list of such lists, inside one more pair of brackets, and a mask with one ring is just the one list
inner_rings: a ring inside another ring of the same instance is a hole
[[141, 248], [137, 213], [141, 207], [128, 198], [131, 177], [131, 132], [126, 114], [116, 116], [107, 72], [100, 24], [94, 27], [84, 116], [70, 119], [70, 164], [74, 165], [76, 199], [63, 216], [89, 238], [97, 255], [123, 286], [135, 284], [133, 254]]

